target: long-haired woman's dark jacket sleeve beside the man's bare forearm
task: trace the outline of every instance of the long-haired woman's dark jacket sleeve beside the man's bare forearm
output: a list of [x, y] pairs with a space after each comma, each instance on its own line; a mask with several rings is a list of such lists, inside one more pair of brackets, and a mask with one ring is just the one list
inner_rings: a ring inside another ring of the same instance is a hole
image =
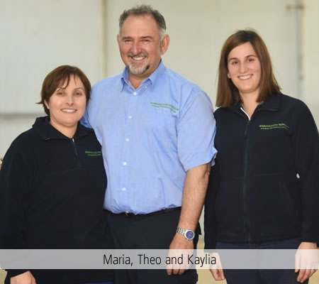
[[205, 250], [216, 249], [217, 224], [215, 214], [216, 195], [220, 183], [218, 162], [211, 168], [204, 207]]

